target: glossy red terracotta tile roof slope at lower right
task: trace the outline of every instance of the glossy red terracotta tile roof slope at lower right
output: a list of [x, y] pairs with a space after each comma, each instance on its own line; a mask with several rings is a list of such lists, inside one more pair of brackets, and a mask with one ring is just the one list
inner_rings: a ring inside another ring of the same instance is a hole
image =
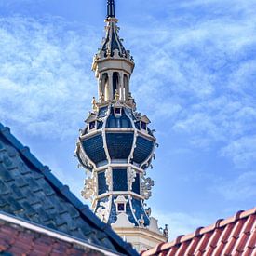
[[218, 220], [208, 227], [199, 227], [195, 233], [178, 236], [154, 249], [141, 252], [142, 256], [255, 256], [256, 208], [238, 211], [235, 216]]

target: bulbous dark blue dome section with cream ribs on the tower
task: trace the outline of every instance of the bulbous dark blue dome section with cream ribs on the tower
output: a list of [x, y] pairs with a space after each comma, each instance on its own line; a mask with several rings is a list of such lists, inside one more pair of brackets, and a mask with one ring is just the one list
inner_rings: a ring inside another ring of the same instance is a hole
[[77, 143], [80, 163], [89, 169], [109, 163], [131, 163], [146, 168], [151, 162], [155, 137], [146, 116], [122, 104], [103, 106], [86, 120]]

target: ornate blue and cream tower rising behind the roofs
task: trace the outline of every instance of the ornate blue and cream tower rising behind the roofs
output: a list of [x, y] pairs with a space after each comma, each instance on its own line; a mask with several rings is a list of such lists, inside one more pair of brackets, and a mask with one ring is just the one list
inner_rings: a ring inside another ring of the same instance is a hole
[[92, 63], [98, 99], [93, 97], [75, 154], [88, 174], [82, 195], [103, 222], [141, 251], [168, 239], [167, 228], [160, 232], [151, 209], [144, 209], [154, 185], [146, 169], [156, 141], [130, 93], [134, 61], [118, 36], [114, 0], [107, 2], [105, 22], [106, 35]]

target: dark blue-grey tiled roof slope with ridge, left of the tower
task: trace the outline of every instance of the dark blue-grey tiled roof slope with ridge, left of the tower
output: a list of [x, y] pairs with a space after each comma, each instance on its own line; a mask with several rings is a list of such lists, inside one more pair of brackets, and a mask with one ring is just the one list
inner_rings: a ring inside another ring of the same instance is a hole
[[0, 210], [107, 249], [137, 254], [1, 123]]

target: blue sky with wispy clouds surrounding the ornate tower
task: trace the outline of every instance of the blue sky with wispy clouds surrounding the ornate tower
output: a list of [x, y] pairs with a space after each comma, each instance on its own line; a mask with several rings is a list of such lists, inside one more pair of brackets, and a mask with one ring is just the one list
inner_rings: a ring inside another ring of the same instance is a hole
[[[103, 0], [0, 0], [0, 121], [80, 196]], [[171, 237], [256, 196], [256, 0], [117, 0], [131, 90], [160, 147], [148, 205]]]

